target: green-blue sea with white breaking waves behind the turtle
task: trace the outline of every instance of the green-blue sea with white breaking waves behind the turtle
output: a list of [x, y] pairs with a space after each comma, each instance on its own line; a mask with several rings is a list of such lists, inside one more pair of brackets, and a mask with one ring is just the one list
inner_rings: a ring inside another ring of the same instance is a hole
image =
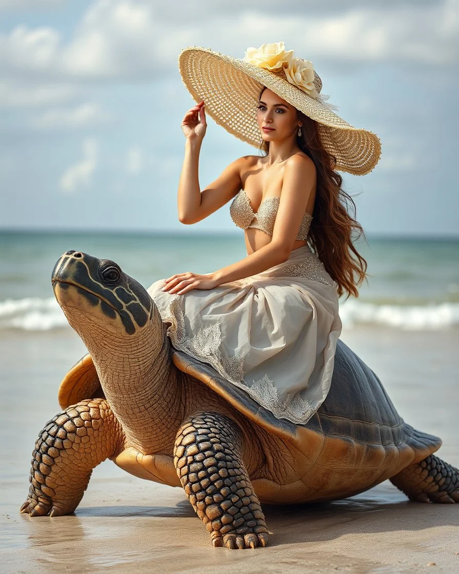
[[[369, 276], [358, 298], [341, 298], [344, 327], [458, 327], [459, 239], [367, 239], [357, 249]], [[246, 256], [240, 234], [3, 231], [0, 331], [69, 328], [50, 284], [55, 262], [69, 249], [112, 259], [146, 287], [174, 273], [209, 273]]]

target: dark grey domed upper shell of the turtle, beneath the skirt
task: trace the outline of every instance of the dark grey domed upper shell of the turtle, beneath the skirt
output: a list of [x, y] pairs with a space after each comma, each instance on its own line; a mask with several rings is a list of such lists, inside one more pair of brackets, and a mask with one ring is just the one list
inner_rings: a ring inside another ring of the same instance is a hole
[[174, 364], [224, 397], [260, 426], [286, 439], [301, 442], [304, 430], [342, 441], [356, 441], [378, 449], [403, 449], [406, 445], [422, 460], [441, 446], [441, 439], [415, 430], [399, 416], [374, 371], [341, 339], [337, 341], [332, 383], [320, 409], [305, 425], [279, 419], [242, 389], [221, 377], [209, 364], [174, 350]]

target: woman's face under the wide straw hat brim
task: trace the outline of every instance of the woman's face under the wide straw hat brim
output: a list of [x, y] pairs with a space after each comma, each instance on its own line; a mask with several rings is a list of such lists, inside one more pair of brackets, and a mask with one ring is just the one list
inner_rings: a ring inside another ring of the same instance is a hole
[[[263, 90], [256, 110], [256, 121], [265, 141], [282, 141], [292, 138], [298, 131], [297, 110], [268, 88]], [[270, 130], [263, 130], [263, 127]]]

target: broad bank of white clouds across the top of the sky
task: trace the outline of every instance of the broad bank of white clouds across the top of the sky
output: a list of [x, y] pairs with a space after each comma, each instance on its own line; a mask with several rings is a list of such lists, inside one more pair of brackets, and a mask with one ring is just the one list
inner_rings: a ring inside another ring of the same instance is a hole
[[[336, 2], [333, 2], [336, 4]], [[271, 4], [270, 4], [271, 6]], [[0, 36], [0, 71], [9, 75], [80, 80], [177, 73], [181, 48], [199, 42], [243, 57], [248, 46], [284, 40], [298, 55], [343, 65], [374, 61], [457, 63], [459, 0], [443, 2], [353, 2], [345, 11], [308, 11], [289, 5], [280, 13], [244, 3], [221, 17], [208, 2], [207, 18], [176, 18], [177, 6], [147, 0], [97, 0], [77, 24], [68, 44], [50, 27], [20, 25]], [[202, 11], [203, 6], [200, 7]], [[173, 26], [170, 17], [174, 15]]]

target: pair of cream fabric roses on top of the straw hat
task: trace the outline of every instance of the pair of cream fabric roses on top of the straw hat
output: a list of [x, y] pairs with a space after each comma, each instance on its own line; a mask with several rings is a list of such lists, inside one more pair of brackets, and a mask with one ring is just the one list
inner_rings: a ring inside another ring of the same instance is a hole
[[243, 61], [269, 71], [285, 73], [287, 81], [311, 98], [318, 98], [314, 86], [314, 67], [310, 60], [294, 56], [293, 50], [286, 50], [283, 42], [262, 44], [259, 48], [247, 48]]

